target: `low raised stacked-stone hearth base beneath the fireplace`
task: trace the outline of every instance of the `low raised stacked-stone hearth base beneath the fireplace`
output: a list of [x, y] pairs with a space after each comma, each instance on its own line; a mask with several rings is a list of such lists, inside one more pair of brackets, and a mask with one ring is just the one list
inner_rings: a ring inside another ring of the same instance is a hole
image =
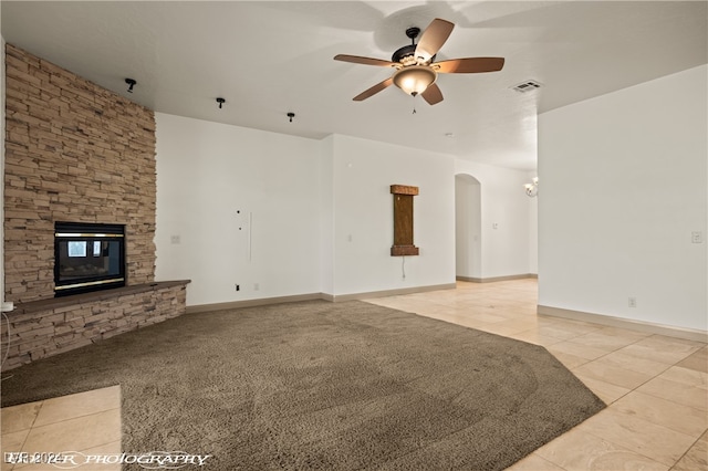
[[[9, 338], [2, 370], [83, 347], [185, 313], [187, 281], [156, 283], [103, 293], [21, 304], [0, 324]], [[71, 299], [71, 300], [70, 300]]]

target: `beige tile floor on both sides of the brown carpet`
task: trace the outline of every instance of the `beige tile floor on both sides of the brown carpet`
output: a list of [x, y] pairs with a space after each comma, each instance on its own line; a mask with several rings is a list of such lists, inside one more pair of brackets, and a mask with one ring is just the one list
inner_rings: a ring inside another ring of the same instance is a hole
[[[535, 280], [459, 282], [457, 290], [368, 301], [543, 345], [607, 402], [509, 471], [708, 471], [705, 343], [538, 316]], [[3, 458], [6, 451], [119, 453], [119, 395], [115, 386], [3, 408]], [[2, 471], [48, 469], [58, 468], [2, 463]]]

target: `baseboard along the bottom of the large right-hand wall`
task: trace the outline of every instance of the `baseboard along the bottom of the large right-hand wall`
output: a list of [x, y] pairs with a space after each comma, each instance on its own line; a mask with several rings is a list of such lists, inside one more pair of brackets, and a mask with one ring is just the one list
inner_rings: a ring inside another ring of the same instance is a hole
[[561, 307], [543, 306], [540, 304], [537, 306], [537, 313], [539, 315], [591, 322], [594, 324], [608, 325], [612, 327], [627, 328], [632, 331], [646, 332], [649, 334], [666, 335], [668, 337], [708, 343], [708, 331], [700, 331], [697, 328], [675, 327], [671, 325], [654, 324], [650, 322], [613, 317], [608, 315], [593, 314], [582, 311], [564, 310]]

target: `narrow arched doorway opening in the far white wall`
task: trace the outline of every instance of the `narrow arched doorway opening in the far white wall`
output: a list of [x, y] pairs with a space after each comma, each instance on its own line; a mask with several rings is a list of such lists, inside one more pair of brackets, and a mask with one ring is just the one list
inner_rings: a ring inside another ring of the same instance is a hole
[[482, 278], [481, 184], [470, 175], [455, 176], [455, 275], [458, 280]]

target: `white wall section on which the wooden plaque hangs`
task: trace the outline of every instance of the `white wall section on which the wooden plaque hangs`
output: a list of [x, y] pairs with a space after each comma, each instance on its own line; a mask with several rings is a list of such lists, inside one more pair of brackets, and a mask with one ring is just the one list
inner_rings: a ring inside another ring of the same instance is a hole
[[[335, 295], [455, 282], [455, 166], [450, 156], [333, 136]], [[391, 257], [391, 185], [414, 197], [417, 257]], [[405, 279], [404, 279], [405, 273]]]

